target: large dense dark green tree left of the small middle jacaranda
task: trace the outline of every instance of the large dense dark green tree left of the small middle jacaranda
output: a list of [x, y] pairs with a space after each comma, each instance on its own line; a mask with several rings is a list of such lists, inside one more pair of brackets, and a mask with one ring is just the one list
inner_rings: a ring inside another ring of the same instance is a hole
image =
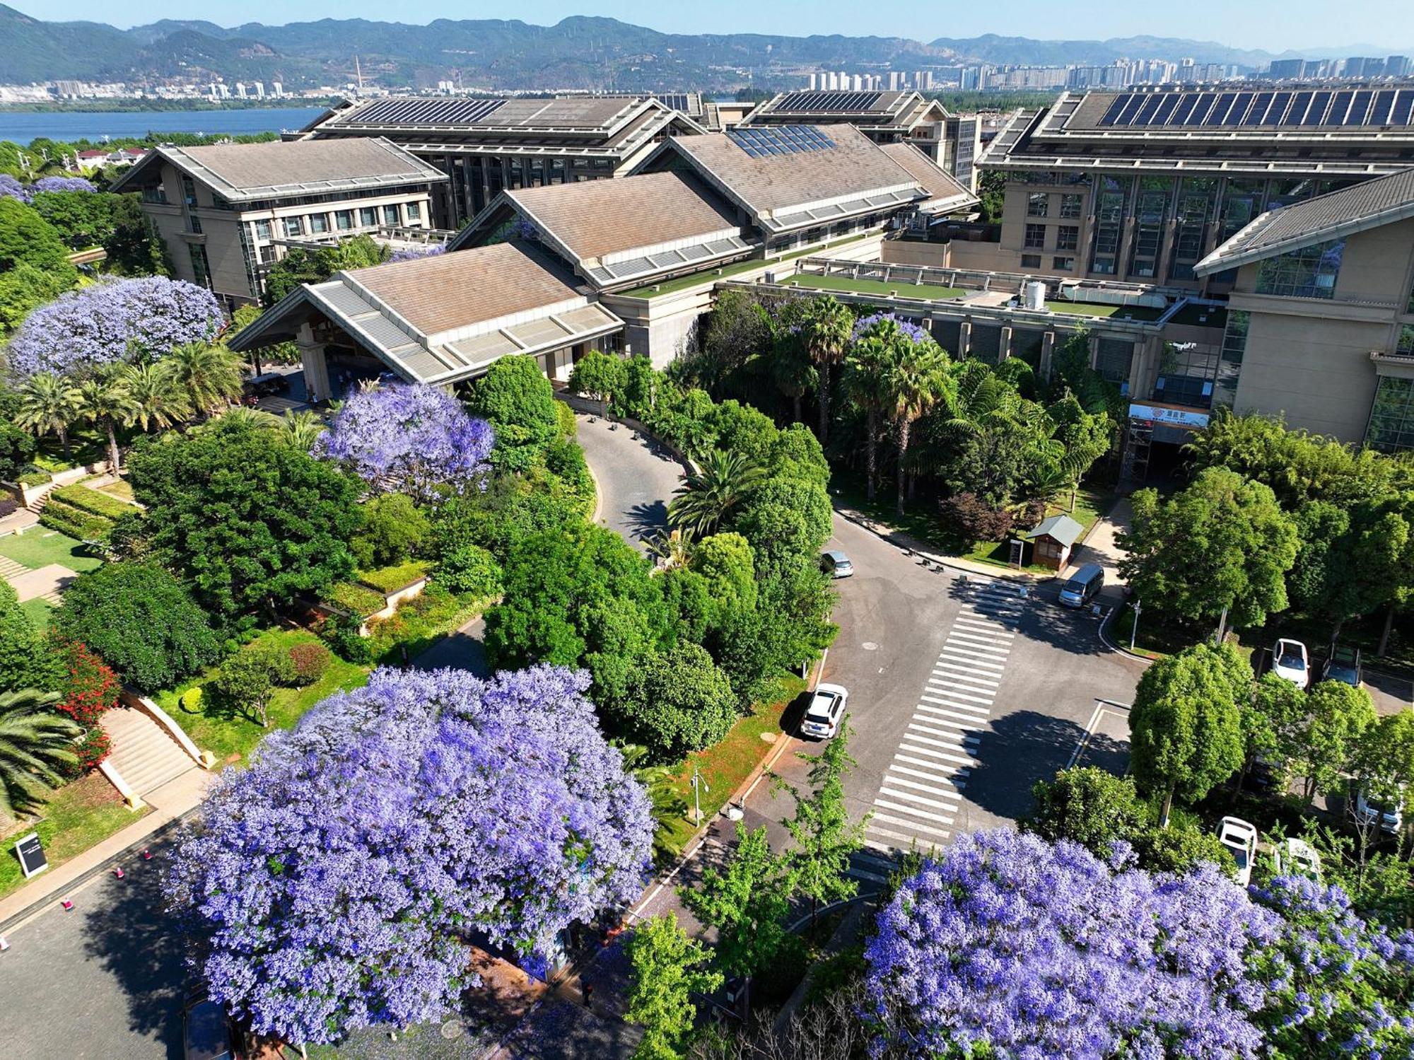
[[150, 544], [222, 618], [273, 611], [354, 572], [359, 486], [277, 432], [225, 423], [139, 440], [129, 481]]

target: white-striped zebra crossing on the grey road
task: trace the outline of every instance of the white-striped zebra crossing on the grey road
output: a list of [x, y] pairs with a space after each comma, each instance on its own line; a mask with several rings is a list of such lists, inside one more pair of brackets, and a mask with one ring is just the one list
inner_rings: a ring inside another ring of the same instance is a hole
[[967, 582], [906, 731], [884, 772], [853, 875], [882, 882], [898, 851], [952, 835], [1025, 608], [1015, 585]]

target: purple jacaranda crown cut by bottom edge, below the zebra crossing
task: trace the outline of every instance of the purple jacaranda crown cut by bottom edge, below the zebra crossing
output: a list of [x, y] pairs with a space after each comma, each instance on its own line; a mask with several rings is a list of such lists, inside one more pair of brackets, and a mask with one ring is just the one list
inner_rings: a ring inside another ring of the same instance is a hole
[[1042, 1060], [1256, 1057], [1249, 962], [1281, 931], [1212, 865], [1152, 876], [1072, 842], [960, 837], [865, 948], [878, 1049]]

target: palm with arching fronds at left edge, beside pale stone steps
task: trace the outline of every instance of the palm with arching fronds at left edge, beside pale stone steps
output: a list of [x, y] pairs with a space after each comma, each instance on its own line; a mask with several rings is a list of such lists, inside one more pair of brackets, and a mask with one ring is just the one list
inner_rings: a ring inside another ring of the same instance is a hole
[[52, 709], [58, 698], [38, 688], [0, 695], [0, 814], [14, 817], [41, 804], [64, 783], [59, 766], [79, 760], [74, 741], [83, 726]]

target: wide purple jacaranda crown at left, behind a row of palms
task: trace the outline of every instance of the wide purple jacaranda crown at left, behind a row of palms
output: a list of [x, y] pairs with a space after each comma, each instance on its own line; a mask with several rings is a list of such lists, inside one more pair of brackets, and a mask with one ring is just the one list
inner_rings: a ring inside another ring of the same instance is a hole
[[25, 317], [10, 341], [13, 372], [66, 375], [120, 360], [157, 359], [205, 342], [222, 325], [205, 287], [148, 276], [69, 291]]

